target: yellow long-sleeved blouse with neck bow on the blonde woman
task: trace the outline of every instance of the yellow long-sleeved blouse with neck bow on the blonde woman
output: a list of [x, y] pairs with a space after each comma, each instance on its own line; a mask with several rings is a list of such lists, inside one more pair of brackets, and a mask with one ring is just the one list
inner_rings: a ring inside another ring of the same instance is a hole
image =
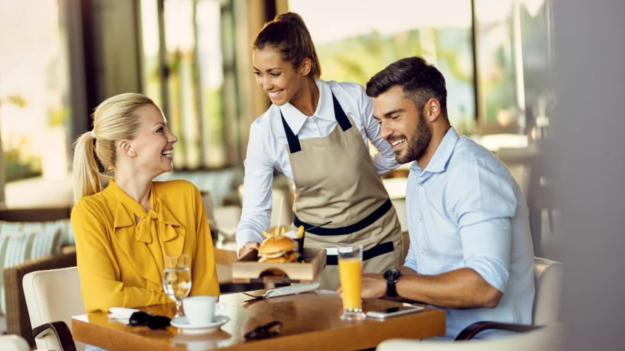
[[186, 180], [153, 182], [150, 203], [146, 212], [111, 180], [74, 206], [71, 222], [86, 312], [171, 302], [163, 290], [164, 255], [189, 255], [190, 295], [219, 295], [199, 190]]

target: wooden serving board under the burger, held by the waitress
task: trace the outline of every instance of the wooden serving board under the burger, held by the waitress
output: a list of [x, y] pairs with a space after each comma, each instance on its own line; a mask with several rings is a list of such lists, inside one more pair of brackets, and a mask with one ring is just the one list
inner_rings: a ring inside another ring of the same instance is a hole
[[314, 282], [326, 268], [326, 249], [304, 249], [304, 262], [258, 262], [258, 252], [232, 263], [234, 283], [303, 283]]

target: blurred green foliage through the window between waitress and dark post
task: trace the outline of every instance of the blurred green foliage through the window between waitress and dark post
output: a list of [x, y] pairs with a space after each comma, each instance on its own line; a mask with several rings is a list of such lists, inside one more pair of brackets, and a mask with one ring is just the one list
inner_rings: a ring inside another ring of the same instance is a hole
[[[432, 32], [433, 42], [431, 35], [425, 35]], [[423, 56], [432, 61], [431, 57], [434, 57], [436, 62], [432, 63], [446, 78], [450, 121], [461, 133], [473, 131], [475, 92], [469, 28], [411, 29], [393, 35], [372, 31], [320, 43], [316, 47], [322, 79], [357, 82], [362, 86], [394, 61], [410, 56]], [[434, 51], [427, 52], [426, 47], [434, 47]]]

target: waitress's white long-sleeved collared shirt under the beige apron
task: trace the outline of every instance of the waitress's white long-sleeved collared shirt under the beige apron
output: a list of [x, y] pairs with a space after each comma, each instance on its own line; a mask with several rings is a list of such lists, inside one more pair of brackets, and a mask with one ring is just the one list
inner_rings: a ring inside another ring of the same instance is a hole
[[380, 136], [380, 125], [373, 118], [373, 104], [371, 98], [365, 94], [364, 88], [352, 82], [325, 82], [321, 79], [315, 79], [315, 82], [319, 87], [319, 102], [312, 117], [307, 117], [287, 102], [281, 107], [271, 105], [267, 112], [252, 123], [244, 162], [243, 208], [236, 234], [239, 247], [249, 241], [262, 242], [262, 230], [269, 228], [274, 169], [281, 171], [291, 179], [291, 182], [293, 181], [291, 162], [286, 148], [288, 142], [280, 111], [300, 140], [325, 137], [337, 126], [332, 102], [334, 93], [345, 114], [356, 124], [367, 148], [369, 139], [379, 151], [373, 157], [377, 173], [384, 174], [399, 167], [392, 146]]

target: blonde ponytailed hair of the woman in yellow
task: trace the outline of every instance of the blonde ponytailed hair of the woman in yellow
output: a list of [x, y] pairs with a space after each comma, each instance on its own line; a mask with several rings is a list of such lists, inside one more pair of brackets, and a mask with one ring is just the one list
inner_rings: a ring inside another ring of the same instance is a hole
[[100, 192], [101, 180], [111, 178], [100, 173], [94, 149], [104, 169], [114, 171], [116, 141], [133, 140], [137, 136], [141, 125], [137, 111], [144, 106], [156, 107], [156, 104], [147, 96], [126, 93], [109, 97], [96, 107], [92, 115], [93, 131], [74, 142], [74, 202]]

